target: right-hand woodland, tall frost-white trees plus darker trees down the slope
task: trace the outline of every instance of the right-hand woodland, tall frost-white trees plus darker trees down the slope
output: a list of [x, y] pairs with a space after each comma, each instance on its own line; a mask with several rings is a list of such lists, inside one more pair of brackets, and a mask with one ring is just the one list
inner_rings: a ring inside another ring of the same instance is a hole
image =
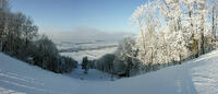
[[148, 1], [137, 7], [130, 22], [140, 35], [124, 37], [114, 54], [89, 64], [85, 57], [85, 69], [131, 77], [181, 64], [217, 49], [217, 0]]

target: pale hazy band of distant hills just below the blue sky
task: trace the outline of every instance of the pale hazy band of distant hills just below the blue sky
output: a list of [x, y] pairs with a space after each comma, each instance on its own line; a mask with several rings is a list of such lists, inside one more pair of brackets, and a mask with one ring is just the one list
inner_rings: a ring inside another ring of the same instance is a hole
[[72, 32], [45, 32], [56, 44], [59, 43], [94, 43], [119, 42], [125, 35], [134, 35], [126, 32], [102, 32], [95, 28], [76, 28]]

